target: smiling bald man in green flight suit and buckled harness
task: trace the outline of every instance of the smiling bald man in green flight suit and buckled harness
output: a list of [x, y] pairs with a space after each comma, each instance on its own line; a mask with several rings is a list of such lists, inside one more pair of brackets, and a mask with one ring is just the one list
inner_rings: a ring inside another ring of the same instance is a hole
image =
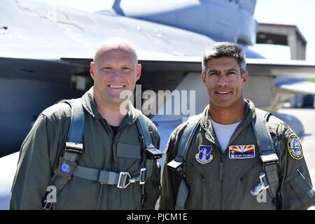
[[82, 98], [38, 116], [20, 149], [10, 209], [155, 208], [160, 165], [146, 146], [159, 148], [160, 134], [130, 102], [121, 106], [141, 76], [134, 47], [106, 39], [90, 74], [94, 86]]

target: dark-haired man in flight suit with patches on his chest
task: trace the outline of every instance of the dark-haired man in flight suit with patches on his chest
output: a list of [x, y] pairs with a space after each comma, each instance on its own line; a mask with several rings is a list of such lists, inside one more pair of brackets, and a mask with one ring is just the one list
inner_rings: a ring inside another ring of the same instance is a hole
[[160, 209], [307, 209], [314, 189], [293, 130], [244, 99], [246, 56], [235, 43], [203, 52], [209, 105], [172, 132]]

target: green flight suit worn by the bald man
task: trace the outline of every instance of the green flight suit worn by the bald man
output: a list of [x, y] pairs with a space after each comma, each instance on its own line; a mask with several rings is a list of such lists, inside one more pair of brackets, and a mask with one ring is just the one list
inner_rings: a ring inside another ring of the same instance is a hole
[[[78, 165], [111, 172], [129, 172], [139, 175], [144, 165], [143, 147], [137, 130], [137, 113], [130, 104], [130, 111], [118, 127], [114, 136], [111, 127], [97, 111], [92, 88], [83, 95], [85, 127], [83, 154]], [[10, 209], [41, 209], [42, 199], [50, 178], [64, 153], [69, 132], [71, 108], [59, 103], [45, 109], [38, 116], [20, 150], [18, 170], [13, 182]], [[150, 119], [146, 125], [156, 148], [160, 145], [160, 134]], [[119, 143], [119, 144], [118, 144]], [[133, 155], [127, 153], [132, 145]], [[160, 167], [156, 160], [153, 175], [146, 179], [144, 209], [154, 209], [160, 196]], [[143, 209], [139, 182], [121, 189], [114, 185], [72, 176], [57, 195], [52, 209]]]

